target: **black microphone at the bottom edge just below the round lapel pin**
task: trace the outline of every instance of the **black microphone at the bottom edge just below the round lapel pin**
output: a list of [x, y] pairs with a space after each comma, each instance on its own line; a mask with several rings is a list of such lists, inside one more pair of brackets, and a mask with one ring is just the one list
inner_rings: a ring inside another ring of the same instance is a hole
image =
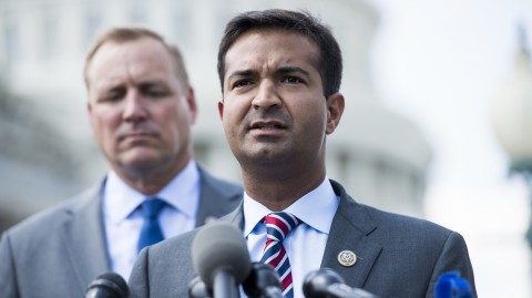
[[329, 268], [309, 273], [303, 282], [303, 292], [307, 298], [378, 298], [362, 289], [347, 286], [345, 279]]

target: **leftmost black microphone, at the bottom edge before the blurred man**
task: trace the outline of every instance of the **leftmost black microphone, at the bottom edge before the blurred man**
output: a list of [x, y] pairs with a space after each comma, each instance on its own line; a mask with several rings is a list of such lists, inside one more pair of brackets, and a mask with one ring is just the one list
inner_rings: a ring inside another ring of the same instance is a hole
[[130, 289], [122, 276], [114, 273], [103, 274], [86, 288], [85, 298], [127, 298]]

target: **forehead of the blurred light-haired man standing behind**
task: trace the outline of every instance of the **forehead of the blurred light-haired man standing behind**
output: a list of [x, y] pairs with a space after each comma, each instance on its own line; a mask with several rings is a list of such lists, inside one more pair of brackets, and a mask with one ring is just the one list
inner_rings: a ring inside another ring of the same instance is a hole
[[117, 78], [168, 75], [174, 72], [172, 56], [164, 45], [152, 39], [109, 41], [94, 54], [88, 76], [91, 82]]

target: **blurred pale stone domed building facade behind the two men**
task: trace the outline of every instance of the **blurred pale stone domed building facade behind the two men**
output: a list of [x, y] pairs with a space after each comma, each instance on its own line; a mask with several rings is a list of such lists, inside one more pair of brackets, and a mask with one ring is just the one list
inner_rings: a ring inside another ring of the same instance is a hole
[[310, 11], [342, 49], [346, 112], [328, 140], [328, 176], [359, 202], [423, 216], [431, 151], [420, 129], [383, 106], [374, 90], [379, 14], [368, 2], [0, 0], [0, 80], [17, 94], [0, 99], [0, 230], [105, 174], [85, 115], [82, 68], [94, 35], [110, 25], [143, 24], [178, 45], [200, 102], [196, 158], [215, 175], [239, 181], [216, 110], [217, 44], [232, 16], [266, 8]]

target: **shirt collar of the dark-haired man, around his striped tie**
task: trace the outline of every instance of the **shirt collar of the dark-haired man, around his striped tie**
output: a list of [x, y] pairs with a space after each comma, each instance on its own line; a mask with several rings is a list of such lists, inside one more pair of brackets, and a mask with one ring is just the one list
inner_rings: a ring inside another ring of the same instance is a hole
[[[318, 187], [294, 202], [284, 212], [295, 215], [306, 225], [320, 233], [329, 234], [338, 204], [339, 198], [326, 177]], [[269, 213], [272, 210], [266, 206], [244, 193], [244, 236], [247, 237], [264, 216]]]

